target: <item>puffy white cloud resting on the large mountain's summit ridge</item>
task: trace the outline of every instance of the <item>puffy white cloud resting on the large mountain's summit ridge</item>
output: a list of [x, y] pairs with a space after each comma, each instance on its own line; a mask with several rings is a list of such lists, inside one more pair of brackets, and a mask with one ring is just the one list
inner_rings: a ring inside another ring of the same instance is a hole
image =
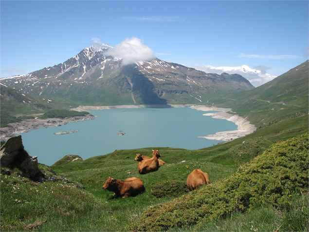
[[115, 47], [110, 48], [106, 55], [122, 58], [122, 64], [132, 64], [141, 60], [151, 60], [155, 58], [153, 51], [144, 45], [141, 39], [125, 39]]

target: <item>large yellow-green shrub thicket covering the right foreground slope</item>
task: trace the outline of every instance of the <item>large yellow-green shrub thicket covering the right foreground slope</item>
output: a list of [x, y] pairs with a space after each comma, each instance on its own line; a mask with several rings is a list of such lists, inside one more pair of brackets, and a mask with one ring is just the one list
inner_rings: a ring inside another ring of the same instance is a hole
[[190, 226], [258, 204], [287, 209], [293, 194], [308, 191], [308, 162], [308, 134], [273, 144], [230, 177], [146, 210], [134, 229]]

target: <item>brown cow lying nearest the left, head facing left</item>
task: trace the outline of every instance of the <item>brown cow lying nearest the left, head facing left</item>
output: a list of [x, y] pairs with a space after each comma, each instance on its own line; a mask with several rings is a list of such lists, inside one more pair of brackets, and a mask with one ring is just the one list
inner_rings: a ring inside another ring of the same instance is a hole
[[116, 197], [136, 196], [145, 190], [143, 181], [136, 177], [125, 180], [117, 180], [109, 177], [102, 187], [110, 192], [114, 192]]

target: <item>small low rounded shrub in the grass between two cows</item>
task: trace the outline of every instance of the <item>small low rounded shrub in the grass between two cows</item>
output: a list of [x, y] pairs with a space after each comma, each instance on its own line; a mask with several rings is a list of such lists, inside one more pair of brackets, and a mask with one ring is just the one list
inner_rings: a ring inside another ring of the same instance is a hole
[[180, 196], [188, 193], [187, 184], [180, 180], [165, 180], [151, 186], [151, 194], [155, 197]]

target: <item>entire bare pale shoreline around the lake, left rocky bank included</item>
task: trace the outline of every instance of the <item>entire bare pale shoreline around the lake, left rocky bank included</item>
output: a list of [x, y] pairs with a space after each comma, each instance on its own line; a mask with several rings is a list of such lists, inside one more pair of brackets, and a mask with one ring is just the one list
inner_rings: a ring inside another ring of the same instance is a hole
[[[238, 115], [233, 115], [228, 112], [229, 108], [219, 108], [215, 106], [193, 105], [193, 104], [180, 104], [180, 105], [115, 105], [115, 106], [78, 106], [72, 108], [75, 111], [89, 111], [89, 110], [109, 110], [120, 108], [182, 108], [188, 107], [198, 111], [218, 111], [216, 113], [206, 113], [204, 116], [211, 116], [213, 118], [225, 119], [234, 122], [237, 130], [217, 132], [213, 135], [198, 136], [200, 138], [229, 141], [245, 135], [251, 134], [256, 130], [256, 127], [251, 124], [247, 118]], [[94, 119], [95, 116], [74, 116], [66, 118], [47, 118], [47, 119], [26, 119], [21, 122], [9, 123], [7, 127], [0, 128], [0, 139], [6, 140], [17, 134], [27, 133], [34, 129], [48, 128], [53, 126], [61, 126], [70, 122], [84, 121]]]

